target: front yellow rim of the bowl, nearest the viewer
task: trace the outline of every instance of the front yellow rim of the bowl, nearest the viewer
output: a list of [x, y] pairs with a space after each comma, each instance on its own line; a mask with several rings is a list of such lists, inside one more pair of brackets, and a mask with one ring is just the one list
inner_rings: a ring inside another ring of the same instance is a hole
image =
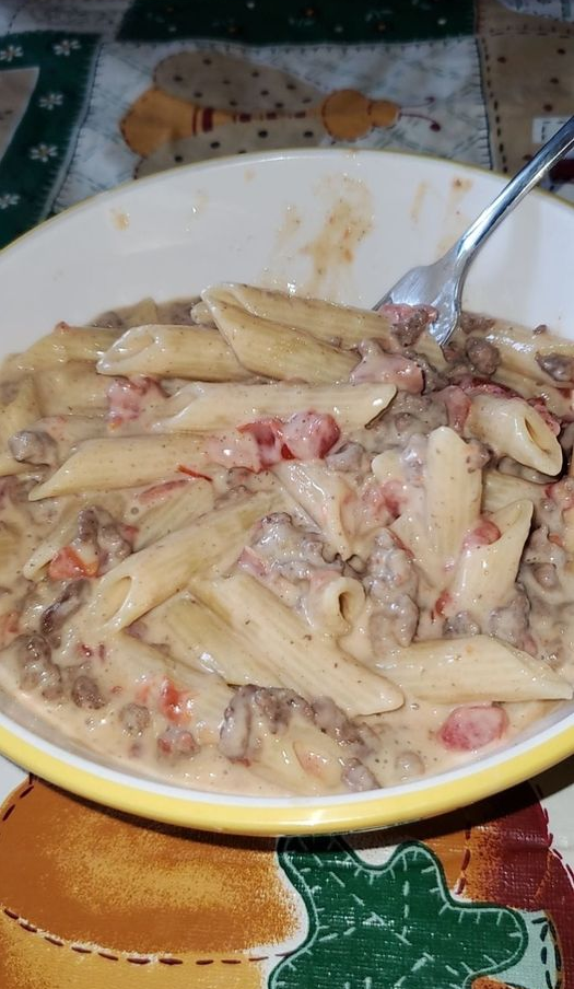
[[227, 803], [222, 794], [213, 794], [219, 802], [210, 803], [209, 798], [195, 800], [191, 790], [181, 790], [181, 796], [171, 796], [143, 789], [145, 781], [139, 789], [137, 780], [120, 783], [71, 766], [3, 726], [0, 726], [0, 751], [42, 779], [128, 814], [208, 831], [269, 837], [371, 830], [433, 817], [476, 803], [524, 782], [571, 755], [574, 752], [574, 725], [525, 752], [507, 758], [502, 756], [501, 763], [494, 766], [473, 769], [470, 765], [468, 776], [438, 779], [406, 793], [388, 795], [383, 792], [380, 796], [365, 796], [353, 802], [341, 798], [340, 802], [326, 804], [317, 798], [316, 805], [309, 802], [304, 806], [290, 806], [288, 801], [273, 806], [242, 806], [233, 796]]

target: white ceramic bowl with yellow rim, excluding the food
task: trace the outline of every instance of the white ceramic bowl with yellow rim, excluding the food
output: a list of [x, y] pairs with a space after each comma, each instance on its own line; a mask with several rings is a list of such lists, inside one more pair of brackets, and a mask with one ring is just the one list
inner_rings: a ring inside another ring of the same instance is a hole
[[[373, 151], [274, 152], [165, 172], [89, 200], [3, 252], [2, 350], [23, 349], [59, 319], [221, 280], [370, 306], [412, 265], [434, 260], [502, 184], [461, 165]], [[574, 211], [531, 195], [477, 260], [467, 306], [574, 336], [573, 241]], [[462, 768], [343, 796], [262, 800], [163, 786], [72, 751], [5, 699], [0, 751], [83, 796], [156, 819], [261, 835], [349, 830], [448, 811], [558, 763], [574, 752], [574, 705]]]

